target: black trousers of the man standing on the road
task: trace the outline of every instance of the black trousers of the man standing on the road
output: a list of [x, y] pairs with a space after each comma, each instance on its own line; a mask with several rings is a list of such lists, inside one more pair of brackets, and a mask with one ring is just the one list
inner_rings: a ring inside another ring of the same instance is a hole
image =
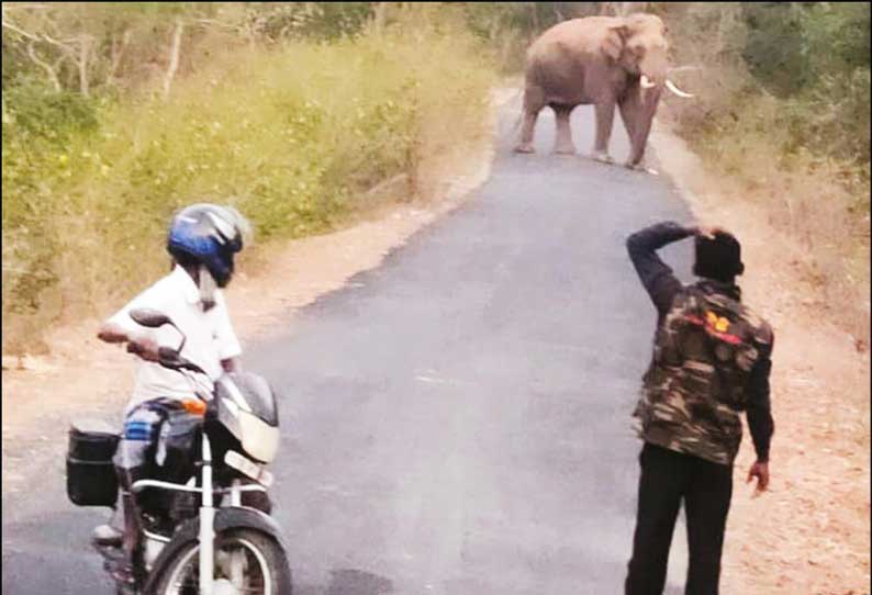
[[625, 595], [662, 595], [679, 507], [687, 524], [685, 595], [717, 595], [733, 467], [647, 444]]

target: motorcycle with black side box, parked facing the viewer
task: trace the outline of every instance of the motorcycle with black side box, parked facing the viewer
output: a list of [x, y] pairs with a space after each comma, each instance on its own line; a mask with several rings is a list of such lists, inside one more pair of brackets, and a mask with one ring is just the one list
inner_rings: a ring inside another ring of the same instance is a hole
[[[193, 397], [182, 406], [194, 422], [175, 438], [170, 431], [159, 447], [165, 474], [131, 485], [142, 528], [134, 574], [143, 579], [131, 584], [119, 577], [115, 570], [125, 555], [120, 542], [93, 542], [116, 593], [290, 595], [291, 571], [267, 496], [272, 474], [266, 465], [279, 446], [269, 384], [250, 373], [225, 373], [212, 382], [180, 355], [186, 337], [169, 317], [147, 308], [132, 311], [131, 317], [150, 328], [170, 325], [181, 335], [177, 349], [159, 348], [158, 363], [191, 383]], [[132, 345], [127, 350], [136, 352]], [[115, 508], [119, 480], [112, 458], [120, 438], [111, 428], [74, 422], [67, 456], [74, 504]]]

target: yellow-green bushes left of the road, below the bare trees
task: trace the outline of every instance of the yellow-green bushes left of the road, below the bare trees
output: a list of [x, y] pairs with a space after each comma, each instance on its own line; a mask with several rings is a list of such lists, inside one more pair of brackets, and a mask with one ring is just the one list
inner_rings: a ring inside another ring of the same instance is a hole
[[392, 20], [333, 43], [236, 45], [167, 101], [4, 89], [4, 351], [163, 273], [166, 225], [185, 204], [235, 204], [259, 243], [323, 233], [373, 184], [414, 181], [481, 141], [485, 53], [451, 14], [412, 7]]

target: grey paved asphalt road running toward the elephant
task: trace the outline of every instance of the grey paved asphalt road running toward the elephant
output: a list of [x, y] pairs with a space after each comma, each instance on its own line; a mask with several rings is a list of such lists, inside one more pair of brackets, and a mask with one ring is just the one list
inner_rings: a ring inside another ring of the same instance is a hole
[[[465, 206], [247, 355], [282, 395], [273, 497], [298, 593], [622, 592], [655, 324], [624, 238], [690, 215], [663, 178], [549, 155], [550, 113], [539, 153], [511, 154], [514, 109]], [[582, 150], [592, 115], [573, 114]], [[686, 246], [666, 254], [689, 269]], [[3, 494], [4, 593], [110, 592], [86, 546], [101, 512], [66, 503], [62, 470]]]

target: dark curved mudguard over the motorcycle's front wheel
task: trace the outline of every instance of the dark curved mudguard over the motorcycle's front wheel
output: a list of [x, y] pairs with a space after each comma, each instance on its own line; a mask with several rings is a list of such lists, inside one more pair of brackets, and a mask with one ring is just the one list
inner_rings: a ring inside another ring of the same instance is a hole
[[[276, 520], [256, 508], [233, 506], [215, 509], [215, 535], [232, 529], [251, 529], [271, 538], [286, 552], [281, 538], [281, 529]], [[167, 543], [155, 560], [152, 572], [145, 582], [143, 593], [150, 595], [157, 586], [158, 579], [166, 572], [170, 562], [178, 558], [182, 550], [191, 543], [197, 543], [200, 536], [200, 519], [192, 518], [176, 530], [172, 541]]]

